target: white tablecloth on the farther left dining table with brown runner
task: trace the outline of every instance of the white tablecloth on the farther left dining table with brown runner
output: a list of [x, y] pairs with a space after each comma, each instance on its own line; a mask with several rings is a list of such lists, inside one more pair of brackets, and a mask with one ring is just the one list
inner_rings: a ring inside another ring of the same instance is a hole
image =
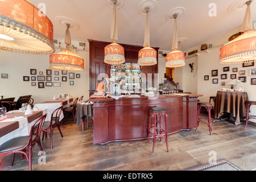
[[[74, 99], [73, 99], [74, 100]], [[66, 100], [61, 100], [61, 101], [66, 101]], [[65, 107], [69, 107], [69, 105], [73, 104], [72, 102], [69, 102], [68, 104], [64, 106]], [[62, 102], [53, 102], [53, 103], [40, 103], [40, 104], [36, 104], [34, 105], [34, 108], [38, 108], [38, 109], [47, 109], [47, 116], [46, 116], [46, 121], [51, 121], [51, 116], [53, 111], [55, 111], [58, 107], [62, 106]], [[60, 121], [64, 118], [64, 114], [63, 112], [60, 114]]]

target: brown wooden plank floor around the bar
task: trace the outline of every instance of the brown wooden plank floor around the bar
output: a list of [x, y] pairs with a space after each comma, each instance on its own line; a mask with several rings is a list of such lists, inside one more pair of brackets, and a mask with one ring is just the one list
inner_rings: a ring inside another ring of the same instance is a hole
[[[247, 129], [229, 122], [213, 123], [213, 135], [209, 135], [205, 123], [199, 131], [181, 132], [168, 137], [166, 143], [157, 142], [155, 154], [151, 154], [152, 141], [115, 143], [108, 146], [93, 144], [93, 125], [82, 132], [72, 119], [61, 125], [53, 135], [53, 150], [50, 140], [42, 142], [46, 151], [46, 164], [38, 164], [38, 146], [32, 158], [32, 170], [182, 170], [208, 163], [209, 152], [215, 151], [217, 159], [225, 158], [243, 170], [256, 170], [256, 126]], [[1, 158], [2, 156], [0, 156]], [[28, 163], [16, 156], [13, 167], [7, 157], [0, 170], [28, 170]]]

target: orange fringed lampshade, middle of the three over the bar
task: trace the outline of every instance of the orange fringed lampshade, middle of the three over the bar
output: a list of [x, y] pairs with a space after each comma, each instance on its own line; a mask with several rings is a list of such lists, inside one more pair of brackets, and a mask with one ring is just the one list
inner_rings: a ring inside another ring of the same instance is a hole
[[139, 51], [138, 64], [141, 66], [151, 66], [158, 63], [156, 60], [157, 51], [151, 47], [144, 47]]

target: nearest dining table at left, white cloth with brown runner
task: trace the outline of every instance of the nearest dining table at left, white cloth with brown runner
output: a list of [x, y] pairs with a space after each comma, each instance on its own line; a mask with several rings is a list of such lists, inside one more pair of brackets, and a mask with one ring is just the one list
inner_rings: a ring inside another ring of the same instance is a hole
[[44, 114], [47, 109], [33, 110], [28, 115], [20, 110], [7, 112], [6, 118], [0, 121], [0, 146], [10, 139], [29, 135], [31, 126]]

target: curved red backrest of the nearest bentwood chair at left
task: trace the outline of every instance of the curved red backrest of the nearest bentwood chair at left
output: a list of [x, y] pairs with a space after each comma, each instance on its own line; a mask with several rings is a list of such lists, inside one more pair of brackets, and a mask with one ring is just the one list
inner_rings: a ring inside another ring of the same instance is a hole
[[[40, 134], [43, 129], [44, 121], [46, 120], [46, 115], [42, 115], [42, 117], [38, 118], [36, 122], [31, 126], [30, 130], [30, 138], [28, 139], [28, 145], [32, 145], [40, 139]], [[37, 125], [37, 127], [35, 127]], [[35, 139], [33, 140], [33, 135], [35, 135]]]

